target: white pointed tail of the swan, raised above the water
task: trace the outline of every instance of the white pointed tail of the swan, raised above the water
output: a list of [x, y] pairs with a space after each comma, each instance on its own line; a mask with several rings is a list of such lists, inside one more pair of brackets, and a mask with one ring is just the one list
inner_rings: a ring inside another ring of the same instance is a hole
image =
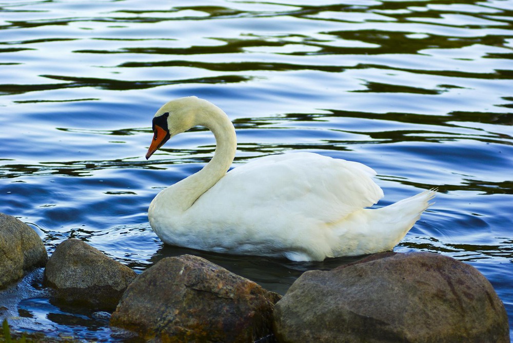
[[[339, 254], [361, 255], [391, 250], [419, 220], [435, 197], [436, 189], [424, 191], [380, 209], [365, 209], [348, 217], [351, 225], [358, 227], [360, 239], [350, 237], [348, 232], [340, 232], [341, 238], [358, 242], [342, 248]], [[348, 250], [346, 250], [348, 248]]]

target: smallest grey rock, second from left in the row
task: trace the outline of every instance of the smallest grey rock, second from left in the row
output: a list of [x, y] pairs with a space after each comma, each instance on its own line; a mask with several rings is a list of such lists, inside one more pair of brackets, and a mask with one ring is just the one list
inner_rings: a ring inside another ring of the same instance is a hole
[[45, 284], [54, 296], [98, 309], [113, 310], [137, 274], [82, 240], [57, 246], [45, 269]]

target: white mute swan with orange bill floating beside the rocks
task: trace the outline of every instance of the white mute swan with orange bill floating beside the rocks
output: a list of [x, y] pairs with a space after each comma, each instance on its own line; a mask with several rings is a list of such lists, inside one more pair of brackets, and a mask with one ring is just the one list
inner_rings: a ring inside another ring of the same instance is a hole
[[165, 243], [295, 261], [391, 250], [435, 191], [380, 209], [383, 191], [371, 168], [314, 153], [270, 155], [228, 171], [236, 150], [233, 124], [195, 96], [162, 106], [153, 117], [148, 159], [172, 136], [194, 126], [211, 130], [216, 149], [199, 172], [164, 189], [148, 218]]

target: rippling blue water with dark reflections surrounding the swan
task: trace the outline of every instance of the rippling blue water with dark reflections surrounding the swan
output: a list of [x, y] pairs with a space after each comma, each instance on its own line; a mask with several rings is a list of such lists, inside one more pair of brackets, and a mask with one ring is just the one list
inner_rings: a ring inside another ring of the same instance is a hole
[[[197, 95], [233, 120], [234, 166], [291, 151], [356, 160], [378, 171], [378, 206], [438, 187], [394, 250], [476, 267], [513, 327], [512, 18], [506, 0], [0, 0], [0, 211], [50, 254], [76, 237], [142, 272], [192, 253], [282, 294], [351, 260], [161, 243], [151, 199], [199, 170], [214, 140], [194, 130], [147, 161], [151, 117]], [[41, 271], [3, 301], [18, 329], [123, 340], [105, 314], [50, 301]]]

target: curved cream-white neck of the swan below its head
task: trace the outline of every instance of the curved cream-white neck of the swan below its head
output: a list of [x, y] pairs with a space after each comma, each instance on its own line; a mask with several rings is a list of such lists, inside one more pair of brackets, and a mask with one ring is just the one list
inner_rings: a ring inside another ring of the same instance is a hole
[[195, 113], [194, 126], [204, 126], [212, 131], [216, 142], [215, 153], [202, 170], [166, 188], [157, 196], [167, 211], [183, 212], [190, 208], [203, 193], [226, 174], [235, 157], [237, 148], [235, 129], [221, 109], [218, 107], [200, 109]]

